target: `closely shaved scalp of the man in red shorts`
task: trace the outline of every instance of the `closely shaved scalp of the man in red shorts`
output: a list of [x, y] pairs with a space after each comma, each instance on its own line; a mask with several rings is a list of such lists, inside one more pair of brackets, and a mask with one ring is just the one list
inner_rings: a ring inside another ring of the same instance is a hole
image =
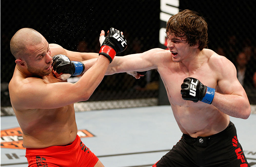
[[22, 28], [18, 30], [11, 38], [10, 49], [15, 59], [26, 59], [27, 46], [37, 45], [42, 42], [42, 36], [38, 31], [32, 28]]

